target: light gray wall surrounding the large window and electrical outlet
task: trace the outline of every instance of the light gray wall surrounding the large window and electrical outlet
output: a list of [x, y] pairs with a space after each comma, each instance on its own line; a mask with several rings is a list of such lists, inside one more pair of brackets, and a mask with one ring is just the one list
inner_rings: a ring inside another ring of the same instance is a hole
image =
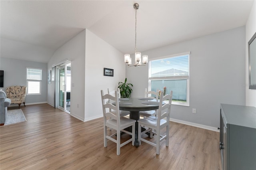
[[[240, 27], [142, 52], [153, 59], [191, 51], [190, 107], [172, 105], [172, 119], [219, 127], [220, 103], [245, 105], [244, 41], [245, 27]], [[127, 68], [126, 77], [134, 85], [132, 97], [142, 97], [148, 65]]]

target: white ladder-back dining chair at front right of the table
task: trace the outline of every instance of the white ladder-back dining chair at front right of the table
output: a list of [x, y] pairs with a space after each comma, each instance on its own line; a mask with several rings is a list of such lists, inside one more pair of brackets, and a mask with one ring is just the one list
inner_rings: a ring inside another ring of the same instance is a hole
[[[162, 105], [162, 102], [166, 101]], [[172, 104], [172, 91], [170, 95], [165, 95], [163, 97], [163, 93], [160, 95], [159, 101], [159, 109], [157, 111], [157, 115], [146, 117], [145, 119], [138, 120], [138, 140], [139, 145], [141, 145], [141, 141], [146, 142], [154, 147], [156, 147], [156, 154], [160, 154], [160, 142], [162, 140], [166, 140], [166, 146], [169, 146], [169, 119], [170, 119], [170, 111], [171, 111], [171, 104]], [[167, 111], [166, 111], [167, 109]], [[141, 132], [141, 127], [145, 126], [148, 127], [147, 130]], [[160, 130], [166, 128], [166, 134], [163, 136], [160, 134]], [[154, 130], [154, 131], [153, 131]], [[142, 134], [150, 132], [150, 138], [152, 138], [152, 134], [156, 136], [156, 143], [146, 140], [146, 138], [142, 138]]]

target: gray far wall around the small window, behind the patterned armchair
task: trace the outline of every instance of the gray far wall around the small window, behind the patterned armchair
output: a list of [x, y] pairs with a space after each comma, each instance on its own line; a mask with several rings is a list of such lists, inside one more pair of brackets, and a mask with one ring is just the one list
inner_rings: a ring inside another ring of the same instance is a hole
[[27, 85], [26, 67], [41, 68], [42, 89], [41, 95], [27, 95], [26, 103], [43, 103], [47, 101], [47, 63], [38, 63], [11, 58], [0, 58], [0, 70], [4, 70], [4, 87], [0, 87], [6, 92], [6, 87], [13, 85]]

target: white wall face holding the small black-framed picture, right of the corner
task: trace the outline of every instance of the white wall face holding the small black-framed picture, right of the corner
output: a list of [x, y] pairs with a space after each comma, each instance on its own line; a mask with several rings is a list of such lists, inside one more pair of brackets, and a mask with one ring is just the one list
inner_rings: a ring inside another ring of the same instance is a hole
[[[105, 68], [114, 69], [114, 77], [104, 76]], [[85, 121], [102, 117], [100, 90], [117, 89], [125, 79], [124, 54], [86, 30]]]

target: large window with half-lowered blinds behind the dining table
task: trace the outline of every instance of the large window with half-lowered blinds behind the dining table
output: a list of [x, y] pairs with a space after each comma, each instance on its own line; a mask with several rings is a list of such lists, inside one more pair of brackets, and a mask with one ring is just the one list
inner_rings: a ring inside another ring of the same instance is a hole
[[173, 91], [172, 104], [189, 106], [190, 52], [169, 55], [149, 61], [149, 89]]

